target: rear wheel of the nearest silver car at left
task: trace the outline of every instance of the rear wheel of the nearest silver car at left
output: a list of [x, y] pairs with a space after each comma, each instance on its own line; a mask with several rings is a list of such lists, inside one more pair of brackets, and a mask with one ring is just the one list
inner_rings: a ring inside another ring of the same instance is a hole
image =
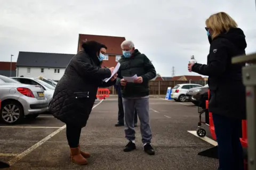
[[2, 109], [2, 118], [7, 123], [16, 122], [20, 117], [20, 109], [15, 104], [6, 104]]

